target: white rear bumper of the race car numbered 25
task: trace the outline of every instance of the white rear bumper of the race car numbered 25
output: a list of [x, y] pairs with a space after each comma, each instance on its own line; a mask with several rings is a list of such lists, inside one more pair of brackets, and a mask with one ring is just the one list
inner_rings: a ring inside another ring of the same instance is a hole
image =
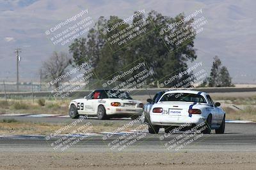
[[152, 125], [179, 126], [182, 124], [200, 124], [205, 122], [206, 118], [200, 115], [192, 115], [192, 117], [184, 116], [168, 116], [168, 115], [150, 115]]

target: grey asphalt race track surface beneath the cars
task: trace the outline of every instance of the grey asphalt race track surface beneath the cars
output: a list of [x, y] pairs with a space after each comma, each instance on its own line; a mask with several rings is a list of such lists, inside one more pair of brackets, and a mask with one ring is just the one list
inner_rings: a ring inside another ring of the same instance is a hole
[[[4, 117], [0, 117], [3, 119]], [[26, 122], [51, 122], [51, 123], [70, 123], [71, 118], [34, 118], [34, 117], [12, 117], [19, 121]], [[131, 120], [96, 120], [88, 119], [92, 124], [102, 124], [103, 122], [113, 122], [124, 125]], [[164, 145], [181, 133], [172, 134], [168, 138], [163, 138], [163, 130], [159, 134], [144, 133], [142, 139], [136, 141], [131, 146], [124, 148], [122, 152], [256, 152], [256, 124], [230, 124], [226, 123], [225, 134], [204, 134], [193, 143], [180, 148], [179, 150], [170, 149]], [[186, 134], [187, 136], [189, 134]], [[118, 152], [117, 149], [111, 150], [109, 143], [119, 138], [119, 135], [113, 135], [106, 140], [102, 136], [87, 136], [76, 145], [67, 148], [65, 152]], [[161, 138], [163, 138], [161, 140]], [[38, 138], [13, 138], [2, 136], [0, 138], [0, 152], [60, 152], [54, 151], [51, 143], [56, 139], [51, 138], [48, 141], [44, 136]]]

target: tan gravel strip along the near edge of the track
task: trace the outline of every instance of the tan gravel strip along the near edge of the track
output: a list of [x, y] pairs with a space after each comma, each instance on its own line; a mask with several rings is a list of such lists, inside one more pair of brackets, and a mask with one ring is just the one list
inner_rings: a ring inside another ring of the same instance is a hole
[[255, 169], [255, 152], [2, 152], [0, 169]]

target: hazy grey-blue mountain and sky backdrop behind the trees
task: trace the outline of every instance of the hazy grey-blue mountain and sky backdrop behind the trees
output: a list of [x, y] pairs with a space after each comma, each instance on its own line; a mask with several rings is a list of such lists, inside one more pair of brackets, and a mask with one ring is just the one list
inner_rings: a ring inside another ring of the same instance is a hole
[[[53, 45], [45, 31], [81, 10], [96, 21], [100, 16], [127, 18], [134, 11], [156, 10], [175, 17], [202, 8], [207, 19], [204, 31], [195, 39], [198, 59], [211, 69], [218, 55], [228, 67], [234, 83], [256, 83], [256, 1], [68, 1], [0, 0], [0, 81], [15, 80], [15, 48], [22, 48], [20, 80], [38, 80], [42, 61], [56, 51], [68, 52], [68, 45]], [[191, 65], [191, 63], [189, 63]]]

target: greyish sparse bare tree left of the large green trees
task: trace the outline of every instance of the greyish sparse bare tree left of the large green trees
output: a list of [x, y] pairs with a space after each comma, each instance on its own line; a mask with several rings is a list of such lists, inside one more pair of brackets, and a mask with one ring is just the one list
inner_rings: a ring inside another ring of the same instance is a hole
[[[51, 82], [56, 88], [60, 86], [63, 80], [62, 75], [67, 73], [67, 67], [72, 63], [67, 53], [53, 52], [52, 56], [43, 63], [42, 71], [44, 78]], [[61, 77], [61, 78], [60, 78]]]

